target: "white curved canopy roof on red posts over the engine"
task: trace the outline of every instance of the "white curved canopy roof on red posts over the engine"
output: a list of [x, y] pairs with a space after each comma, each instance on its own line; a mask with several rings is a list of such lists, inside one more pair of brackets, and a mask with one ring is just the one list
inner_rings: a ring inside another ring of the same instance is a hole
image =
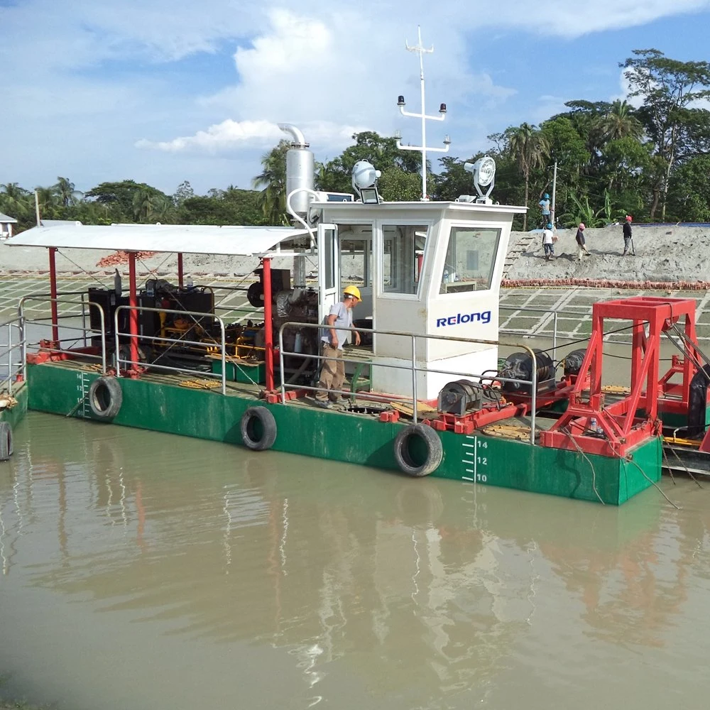
[[206, 226], [200, 224], [111, 224], [35, 226], [6, 240], [9, 246], [58, 249], [158, 251], [255, 256], [281, 241], [308, 234], [288, 226]]

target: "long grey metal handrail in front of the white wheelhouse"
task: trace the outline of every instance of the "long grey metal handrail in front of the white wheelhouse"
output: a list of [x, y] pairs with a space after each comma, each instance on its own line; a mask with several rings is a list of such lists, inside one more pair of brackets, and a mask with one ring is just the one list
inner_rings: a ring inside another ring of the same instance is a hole
[[[281, 369], [282, 377], [281, 377], [281, 402], [285, 403], [286, 401], [286, 388], [292, 388], [292, 389], [305, 389], [309, 391], [320, 391], [320, 388], [318, 387], [308, 387], [308, 386], [303, 386], [303, 385], [290, 385], [288, 383], [285, 383], [284, 378], [283, 378], [283, 371], [284, 371], [284, 363], [283, 363], [283, 356], [284, 355], [296, 355], [300, 356], [304, 359], [313, 359], [313, 360], [328, 360], [330, 358], [324, 358], [320, 355], [310, 355], [310, 354], [304, 354], [304, 353], [297, 353], [297, 352], [290, 352], [290, 351], [284, 351], [283, 349], [283, 332], [287, 327], [298, 327], [298, 328], [313, 328], [317, 330], [325, 330], [325, 329], [330, 329], [330, 326], [327, 324], [318, 324], [318, 323], [300, 323], [300, 322], [294, 322], [294, 321], [289, 321], [285, 322], [284, 324], [281, 325], [281, 327], [278, 329], [278, 346], [279, 346], [279, 366]], [[442, 375], [454, 375], [454, 376], [461, 376], [461, 372], [454, 372], [454, 371], [449, 371], [449, 370], [440, 370], [440, 369], [432, 369], [428, 367], [418, 367], [417, 366], [417, 361], [416, 361], [416, 339], [417, 338], [422, 338], [422, 339], [427, 339], [427, 340], [441, 340], [441, 341], [448, 341], [448, 342], [459, 342], [459, 343], [471, 343], [471, 344], [480, 344], [480, 345], [496, 345], [499, 346], [501, 345], [500, 342], [497, 340], [484, 340], [484, 339], [476, 339], [476, 338], [460, 338], [460, 337], [454, 337], [451, 335], [430, 335], [430, 334], [414, 334], [414, 333], [407, 333], [407, 332], [400, 332], [396, 330], [378, 330], [378, 329], [372, 329], [372, 328], [339, 328], [339, 330], [345, 330], [351, 333], [371, 333], [371, 334], [376, 334], [376, 335], [393, 335], [393, 336], [398, 336], [398, 337], [404, 337], [404, 338], [411, 338], [412, 339], [412, 362], [410, 365], [395, 365], [393, 363], [370, 363], [370, 364], [376, 364], [378, 367], [389, 367], [397, 370], [411, 370], [412, 371], [412, 381], [413, 381], [413, 393], [412, 393], [412, 410], [413, 410], [413, 421], [416, 424], [417, 423], [417, 383], [416, 383], [416, 378], [417, 378], [417, 373], [418, 372], [431, 372], [431, 373], [436, 373], [436, 374], [442, 374]], [[537, 408], [537, 356], [535, 356], [535, 351], [532, 350], [529, 346], [522, 344], [522, 343], [506, 343], [508, 346], [514, 346], [514, 347], [519, 347], [522, 348], [523, 350], [527, 351], [530, 357], [532, 358], [532, 379], [530, 380], [520, 380], [517, 378], [507, 378], [507, 377], [500, 377], [496, 375], [496, 381], [498, 382], [518, 382], [518, 383], [525, 383], [525, 384], [530, 384], [530, 444], [535, 445], [535, 410]], [[346, 363], [354, 363], [354, 364], [360, 364], [360, 360], [355, 360], [355, 359], [348, 359], [348, 358], [342, 358], [343, 362]], [[485, 373], [481, 375], [471, 375], [471, 377], [474, 378], [484, 378]]]

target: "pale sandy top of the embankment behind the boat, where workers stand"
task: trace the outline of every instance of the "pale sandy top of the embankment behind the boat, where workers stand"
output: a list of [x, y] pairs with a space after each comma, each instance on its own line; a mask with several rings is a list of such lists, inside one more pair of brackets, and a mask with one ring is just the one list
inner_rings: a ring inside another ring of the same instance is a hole
[[[697, 282], [710, 280], [710, 227], [691, 226], [640, 226], [635, 225], [633, 241], [635, 256], [621, 256], [623, 237], [621, 225], [603, 229], [586, 229], [587, 249], [591, 256], [577, 261], [575, 231], [560, 230], [555, 244], [555, 259], [545, 261], [542, 236], [532, 236], [528, 246], [508, 269], [511, 281], [545, 279], [581, 279], [618, 281]], [[513, 232], [510, 236], [509, 254], [515, 252], [527, 232]], [[84, 271], [97, 275], [111, 275], [114, 266], [97, 266], [111, 252], [94, 249], [65, 249], [57, 256], [60, 274], [80, 274]], [[283, 261], [283, 263], [280, 263]], [[226, 256], [185, 255], [185, 273], [240, 277], [249, 275], [258, 266], [256, 258]], [[290, 259], [275, 259], [275, 268], [290, 268]], [[315, 270], [315, 259], [309, 258], [307, 269]], [[157, 271], [170, 277], [177, 272], [175, 254], [155, 254], [138, 263], [138, 273]], [[127, 264], [119, 265], [127, 273]], [[38, 273], [48, 271], [45, 249], [0, 244], [0, 273]], [[348, 274], [344, 273], [344, 276]], [[593, 285], [593, 284], [590, 284]]]

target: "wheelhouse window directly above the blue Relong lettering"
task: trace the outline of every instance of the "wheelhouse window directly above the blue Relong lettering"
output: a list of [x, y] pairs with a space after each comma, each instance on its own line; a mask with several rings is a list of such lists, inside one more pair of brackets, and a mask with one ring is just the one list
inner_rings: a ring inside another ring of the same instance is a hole
[[452, 227], [439, 293], [491, 288], [500, 239], [500, 229]]

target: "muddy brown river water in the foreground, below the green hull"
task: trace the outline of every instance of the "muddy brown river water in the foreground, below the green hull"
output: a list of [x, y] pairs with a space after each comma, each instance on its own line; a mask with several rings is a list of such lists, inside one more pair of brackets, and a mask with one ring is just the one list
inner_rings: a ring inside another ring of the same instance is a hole
[[2, 692], [60, 710], [707, 706], [710, 482], [622, 508], [31, 413]]

